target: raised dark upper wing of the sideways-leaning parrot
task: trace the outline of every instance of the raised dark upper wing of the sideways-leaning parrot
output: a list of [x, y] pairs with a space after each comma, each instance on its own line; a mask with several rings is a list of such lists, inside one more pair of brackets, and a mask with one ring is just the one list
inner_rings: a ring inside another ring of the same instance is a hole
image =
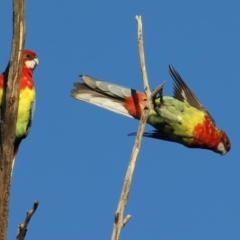
[[179, 73], [174, 69], [172, 65], [169, 65], [169, 73], [173, 79], [173, 97], [181, 102], [188, 103], [192, 107], [205, 112], [215, 125], [215, 121], [207, 109], [201, 104], [196, 95], [187, 86]]

